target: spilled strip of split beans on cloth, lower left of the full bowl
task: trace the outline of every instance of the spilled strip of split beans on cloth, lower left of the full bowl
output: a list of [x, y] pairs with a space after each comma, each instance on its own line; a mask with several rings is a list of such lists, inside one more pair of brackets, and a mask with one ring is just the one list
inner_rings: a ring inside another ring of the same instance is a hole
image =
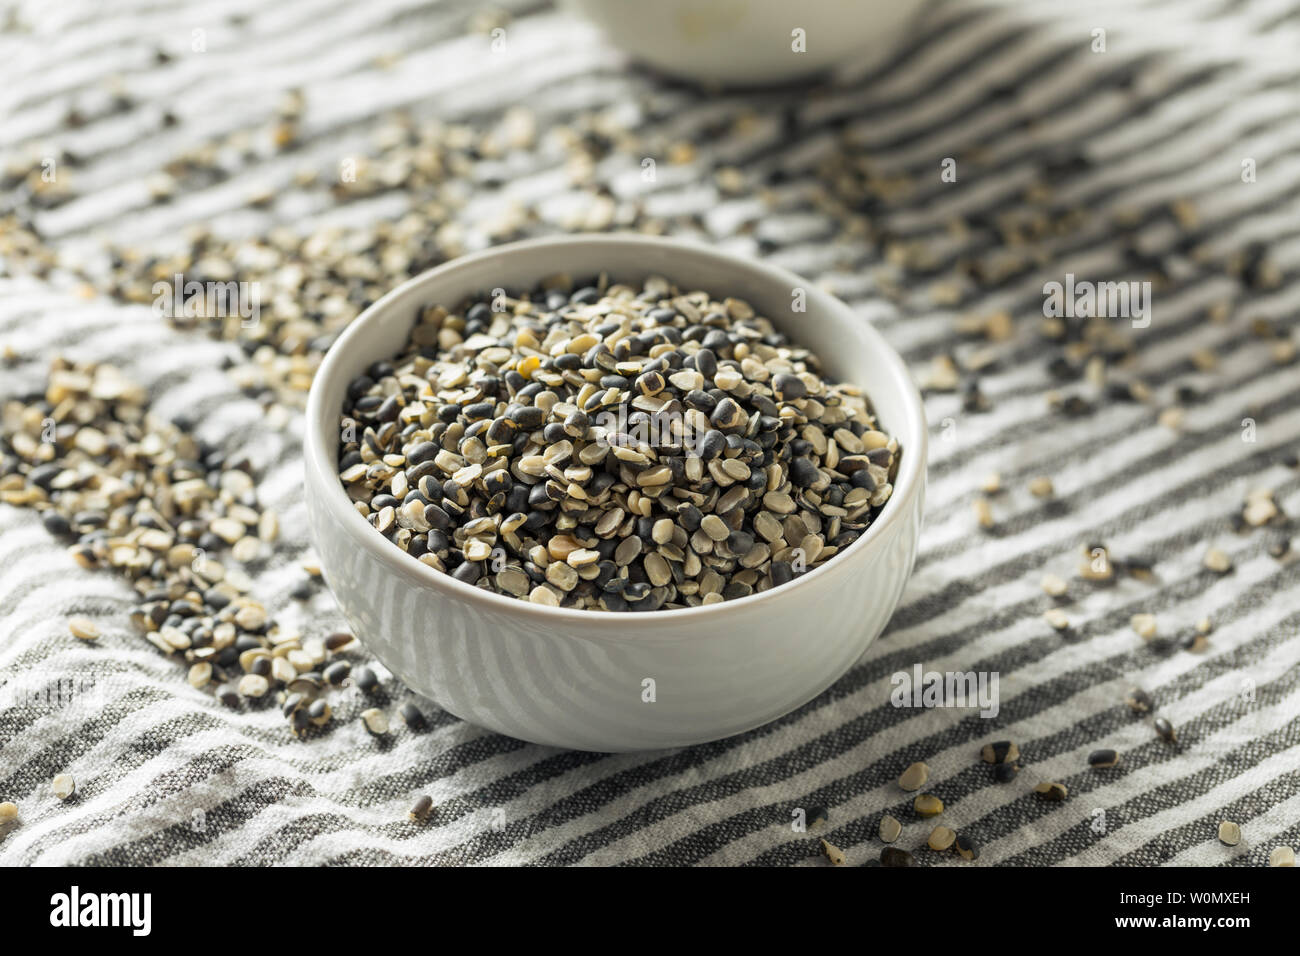
[[[4, 402], [0, 502], [38, 511], [81, 567], [124, 575], [133, 626], [228, 706], [300, 692], [289, 685], [332, 652], [250, 597], [246, 566], [280, 519], [259, 505], [248, 463], [151, 411], [112, 365], [55, 359], [43, 394]], [[77, 617], [68, 630], [95, 641], [101, 627]], [[296, 711], [285, 711], [295, 732]]]

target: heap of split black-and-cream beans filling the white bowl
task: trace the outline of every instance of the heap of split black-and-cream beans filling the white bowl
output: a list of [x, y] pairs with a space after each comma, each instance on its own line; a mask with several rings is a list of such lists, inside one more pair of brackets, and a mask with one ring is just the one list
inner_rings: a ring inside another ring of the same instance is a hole
[[796, 579], [888, 502], [866, 397], [748, 303], [571, 289], [430, 306], [352, 382], [339, 479], [407, 554], [547, 606], [688, 607]]

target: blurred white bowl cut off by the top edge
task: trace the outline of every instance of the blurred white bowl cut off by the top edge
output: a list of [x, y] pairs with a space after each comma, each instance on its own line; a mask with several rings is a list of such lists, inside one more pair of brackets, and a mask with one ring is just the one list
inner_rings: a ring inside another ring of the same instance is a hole
[[[619, 47], [697, 82], [766, 86], [852, 62], [867, 70], [894, 48], [922, 0], [568, 0]], [[796, 51], [794, 30], [803, 49]]]

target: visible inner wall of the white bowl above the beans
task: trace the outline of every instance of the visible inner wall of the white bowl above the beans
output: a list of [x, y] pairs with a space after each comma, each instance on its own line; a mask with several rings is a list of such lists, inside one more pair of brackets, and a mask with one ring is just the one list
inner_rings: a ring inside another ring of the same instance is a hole
[[[337, 490], [337, 510], [344, 515], [348, 527], [359, 528], [373, 537], [373, 531], [351, 507], [347, 494], [337, 480], [339, 427], [343, 395], [348, 382], [361, 375], [374, 362], [393, 358], [407, 341], [419, 311], [429, 304], [455, 308], [467, 298], [490, 294], [493, 289], [510, 293], [525, 291], [541, 280], [556, 273], [568, 273], [575, 282], [585, 282], [604, 272], [611, 282], [638, 282], [650, 274], [660, 274], [680, 290], [702, 289], [719, 298], [734, 297], [748, 300], [757, 312], [768, 317], [798, 345], [811, 349], [823, 362], [823, 371], [845, 382], [859, 385], [875, 408], [884, 431], [897, 436], [902, 447], [894, 494], [876, 522], [850, 545], [836, 561], [845, 561], [861, 548], [868, 546], [874, 532], [902, 506], [900, 498], [919, 493], [926, 458], [926, 424], [920, 395], [898, 355], [862, 316], [829, 294], [812, 287], [793, 273], [763, 263], [741, 259], [702, 246], [679, 241], [655, 239], [640, 235], [578, 235], [500, 246], [464, 256], [424, 273], [399, 286], [370, 306], [339, 337], [329, 350], [312, 384], [308, 402], [307, 467], [332, 477]], [[803, 311], [800, 311], [802, 306]], [[897, 503], [897, 506], [896, 506]], [[400, 557], [412, 570], [428, 571], [439, 578], [439, 585], [476, 597], [514, 598], [490, 594], [439, 575], [432, 568], [402, 555], [387, 542], [378, 542], [393, 557]], [[368, 542], [367, 542], [368, 544]], [[386, 555], [387, 557], [387, 555]], [[814, 568], [810, 575], [822, 568]], [[802, 580], [802, 579], [801, 579]], [[793, 581], [781, 591], [794, 588]], [[759, 596], [754, 596], [759, 597]], [[754, 600], [741, 598], [742, 601]], [[715, 605], [715, 607], [723, 607]], [[540, 609], [555, 613], [555, 609]], [[689, 609], [701, 611], [708, 609]], [[584, 615], [603, 611], [577, 611]], [[686, 611], [645, 611], [644, 614], [680, 614]], [[628, 614], [641, 617], [636, 611]]]

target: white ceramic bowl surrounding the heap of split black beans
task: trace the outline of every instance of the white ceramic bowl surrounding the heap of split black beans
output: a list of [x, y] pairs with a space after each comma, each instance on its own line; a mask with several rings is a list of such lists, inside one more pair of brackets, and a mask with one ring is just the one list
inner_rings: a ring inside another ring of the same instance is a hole
[[[647, 274], [748, 299], [827, 371], [867, 389], [897, 436], [894, 493], [842, 553], [794, 581], [708, 607], [608, 613], [543, 607], [421, 564], [374, 532], [337, 476], [348, 382], [400, 351], [417, 311], [567, 272]], [[792, 290], [807, 311], [792, 312]], [[811, 700], [884, 630], [911, 571], [926, 481], [926, 420], [898, 355], [862, 317], [797, 276], [640, 235], [534, 239], [464, 256], [385, 295], [329, 350], [307, 407], [306, 480], [321, 568], [354, 632], [412, 689], [471, 723], [584, 750], [703, 743]], [[653, 701], [646, 688], [651, 687]]]

